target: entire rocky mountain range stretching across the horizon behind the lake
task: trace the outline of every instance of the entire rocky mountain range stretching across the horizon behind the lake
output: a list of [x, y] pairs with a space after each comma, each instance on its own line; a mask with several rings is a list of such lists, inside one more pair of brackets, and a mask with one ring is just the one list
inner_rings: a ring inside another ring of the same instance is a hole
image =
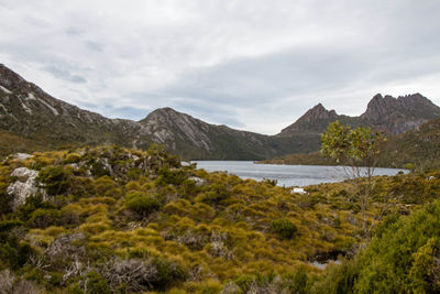
[[56, 99], [0, 64], [0, 152], [118, 144], [146, 149], [164, 144], [191, 160], [263, 160], [317, 151], [329, 122], [370, 126], [399, 134], [440, 117], [440, 108], [420, 94], [376, 95], [360, 117], [338, 115], [321, 104], [278, 134], [265, 135], [210, 124], [172, 108], [160, 108], [140, 121], [109, 119]]

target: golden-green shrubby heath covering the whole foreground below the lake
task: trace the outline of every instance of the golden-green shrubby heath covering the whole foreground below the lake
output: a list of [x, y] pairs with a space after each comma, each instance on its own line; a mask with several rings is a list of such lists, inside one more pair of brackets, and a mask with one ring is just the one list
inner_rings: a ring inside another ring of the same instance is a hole
[[[10, 176], [19, 167], [38, 171], [45, 193], [12, 209], [7, 189], [23, 181]], [[440, 173], [372, 181], [365, 215], [373, 237], [360, 250], [363, 217], [352, 181], [294, 194], [270, 181], [183, 166], [158, 146], [11, 156], [0, 165], [8, 206], [0, 216], [0, 286], [21, 293], [369, 292], [370, 280], [393, 279], [396, 271], [398, 281], [413, 279], [413, 288], [436, 290], [438, 241], [430, 239], [438, 233]], [[424, 218], [431, 225], [418, 231], [414, 222], [399, 247], [409, 250], [392, 251], [402, 241], [392, 231], [404, 236], [405, 224]], [[402, 273], [399, 261], [387, 265], [400, 255], [410, 257]], [[338, 257], [342, 264], [324, 271], [312, 264]], [[385, 268], [376, 271], [377, 262]]]

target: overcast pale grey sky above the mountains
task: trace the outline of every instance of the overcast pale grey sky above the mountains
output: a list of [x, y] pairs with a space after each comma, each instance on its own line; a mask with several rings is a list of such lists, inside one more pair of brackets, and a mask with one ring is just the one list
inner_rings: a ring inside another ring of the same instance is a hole
[[278, 133], [377, 92], [440, 105], [439, 0], [0, 0], [0, 63], [110, 118]]

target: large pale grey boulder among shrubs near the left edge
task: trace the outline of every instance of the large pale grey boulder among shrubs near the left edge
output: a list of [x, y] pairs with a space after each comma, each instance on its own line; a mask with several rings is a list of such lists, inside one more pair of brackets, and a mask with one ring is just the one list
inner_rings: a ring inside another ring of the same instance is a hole
[[24, 204], [30, 196], [36, 195], [37, 193], [40, 193], [43, 198], [46, 197], [45, 190], [38, 187], [36, 179], [38, 176], [37, 171], [29, 170], [28, 167], [19, 167], [12, 172], [11, 176], [16, 177], [16, 181], [7, 188], [7, 193], [13, 196], [12, 209], [16, 209], [16, 207]]

